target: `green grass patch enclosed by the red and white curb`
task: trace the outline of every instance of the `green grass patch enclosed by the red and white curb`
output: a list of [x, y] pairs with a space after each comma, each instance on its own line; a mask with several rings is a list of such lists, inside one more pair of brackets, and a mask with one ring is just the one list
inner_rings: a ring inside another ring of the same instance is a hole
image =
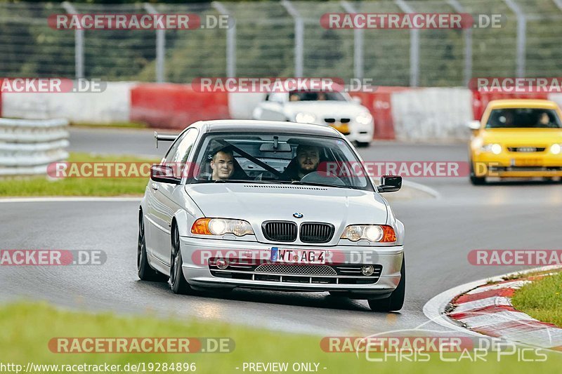
[[516, 309], [562, 327], [562, 272], [526, 284], [511, 298]]

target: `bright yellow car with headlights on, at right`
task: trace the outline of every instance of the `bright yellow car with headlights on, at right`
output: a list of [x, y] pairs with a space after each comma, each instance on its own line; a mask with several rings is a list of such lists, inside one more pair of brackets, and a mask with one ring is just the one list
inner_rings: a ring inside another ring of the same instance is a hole
[[549, 100], [494, 100], [472, 121], [470, 180], [562, 176], [562, 112]]

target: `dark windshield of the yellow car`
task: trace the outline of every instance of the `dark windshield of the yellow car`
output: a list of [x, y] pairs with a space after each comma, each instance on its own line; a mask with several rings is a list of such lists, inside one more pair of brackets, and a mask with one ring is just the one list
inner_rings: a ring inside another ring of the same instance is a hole
[[493, 109], [486, 128], [561, 128], [554, 109]]

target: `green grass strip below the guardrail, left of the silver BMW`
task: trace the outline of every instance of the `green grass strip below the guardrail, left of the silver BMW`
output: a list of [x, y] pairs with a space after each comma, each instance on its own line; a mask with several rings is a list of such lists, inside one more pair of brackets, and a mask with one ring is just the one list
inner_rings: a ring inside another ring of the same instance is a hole
[[[148, 162], [135, 156], [94, 156], [72, 153], [70, 162]], [[0, 196], [141, 196], [148, 178], [0, 178]]]

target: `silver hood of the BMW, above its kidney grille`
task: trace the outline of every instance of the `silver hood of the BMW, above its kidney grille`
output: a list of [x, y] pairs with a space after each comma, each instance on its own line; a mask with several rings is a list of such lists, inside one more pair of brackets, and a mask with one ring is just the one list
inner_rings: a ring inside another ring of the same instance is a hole
[[[387, 220], [384, 200], [378, 194], [334, 187], [210, 183], [186, 185], [185, 191], [205, 217], [247, 220], [258, 239], [261, 223], [268, 220], [328, 222], [341, 234], [347, 225], [379, 224]], [[301, 213], [303, 218], [293, 217]]]

